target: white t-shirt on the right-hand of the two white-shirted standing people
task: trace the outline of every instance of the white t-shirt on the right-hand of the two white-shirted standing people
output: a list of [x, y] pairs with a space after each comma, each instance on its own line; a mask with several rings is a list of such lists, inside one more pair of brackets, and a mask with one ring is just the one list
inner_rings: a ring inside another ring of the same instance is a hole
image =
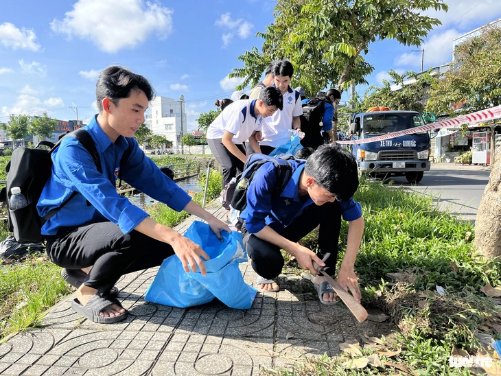
[[272, 116], [263, 119], [263, 141], [259, 145], [278, 148], [290, 140], [292, 117], [303, 115], [301, 95], [289, 86], [283, 95], [283, 110], [277, 110]]

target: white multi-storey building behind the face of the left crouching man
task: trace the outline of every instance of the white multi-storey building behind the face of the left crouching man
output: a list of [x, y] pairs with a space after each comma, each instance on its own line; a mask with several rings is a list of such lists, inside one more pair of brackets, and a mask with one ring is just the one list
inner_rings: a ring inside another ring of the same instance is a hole
[[156, 96], [150, 102], [146, 125], [152, 134], [161, 134], [172, 141], [174, 149], [181, 150], [180, 139], [187, 132], [185, 97], [179, 100]]

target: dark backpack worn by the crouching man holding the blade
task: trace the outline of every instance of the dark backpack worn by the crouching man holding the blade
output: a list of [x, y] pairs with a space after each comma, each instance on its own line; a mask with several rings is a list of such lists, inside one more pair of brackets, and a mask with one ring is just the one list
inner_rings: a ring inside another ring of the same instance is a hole
[[244, 172], [237, 176], [237, 186], [231, 199], [231, 207], [236, 211], [242, 212], [247, 207], [247, 189], [254, 175], [264, 163], [273, 163], [277, 167], [278, 180], [273, 188], [273, 195], [279, 195], [286, 187], [292, 176], [292, 165], [289, 160], [292, 156], [286, 155], [281, 158], [275, 158], [266, 154], [250, 154], [244, 165]]

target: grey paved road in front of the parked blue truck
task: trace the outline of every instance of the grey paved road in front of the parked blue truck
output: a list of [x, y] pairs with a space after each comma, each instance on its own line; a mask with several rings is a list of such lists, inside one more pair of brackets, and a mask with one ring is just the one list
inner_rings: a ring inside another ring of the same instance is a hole
[[419, 185], [395, 178], [395, 185], [408, 187], [434, 197], [439, 207], [459, 218], [475, 222], [485, 186], [489, 183], [490, 166], [433, 163]]

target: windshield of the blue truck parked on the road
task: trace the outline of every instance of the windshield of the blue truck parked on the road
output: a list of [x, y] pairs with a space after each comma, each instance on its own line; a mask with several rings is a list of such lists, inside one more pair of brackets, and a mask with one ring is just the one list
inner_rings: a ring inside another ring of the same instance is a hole
[[423, 119], [417, 113], [379, 113], [364, 116], [364, 134], [386, 134], [423, 126]]

